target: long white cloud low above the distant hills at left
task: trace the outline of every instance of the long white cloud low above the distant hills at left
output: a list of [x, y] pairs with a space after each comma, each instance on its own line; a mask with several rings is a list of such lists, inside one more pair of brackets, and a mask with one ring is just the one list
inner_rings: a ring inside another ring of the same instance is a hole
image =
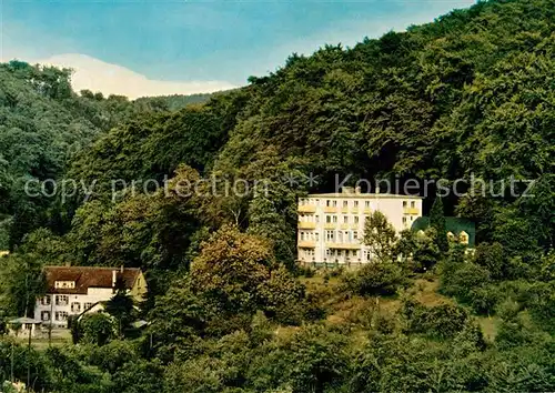
[[211, 93], [236, 88], [225, 81], [161, 81], [152, 80], [118, 64], [103, 62], [85, 54], [68, 53], [31, 63], [71, 68], [71, 84], [75, 91], [100, 91], [104, 95], [120, 94], [130, 99], [152, 95]]

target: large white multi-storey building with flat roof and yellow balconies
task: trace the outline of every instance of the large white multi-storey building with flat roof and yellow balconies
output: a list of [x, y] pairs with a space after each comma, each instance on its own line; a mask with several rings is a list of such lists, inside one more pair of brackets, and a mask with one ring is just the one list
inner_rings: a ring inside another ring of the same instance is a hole
[[381, 211], [398, 232], [410, 230], [422, 216], [422, 198], [361, 193], [344, 188], [341, 193], [309, 194], [299, 200], [297, 259], [303, 264], [361, 264], [372, 261], [362, 243], [364, 222]]

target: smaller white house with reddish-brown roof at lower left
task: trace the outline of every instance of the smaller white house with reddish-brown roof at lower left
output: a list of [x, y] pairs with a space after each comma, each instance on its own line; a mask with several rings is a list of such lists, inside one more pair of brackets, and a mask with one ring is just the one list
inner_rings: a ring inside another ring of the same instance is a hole
[[147, 294], [147, 282], [140, 269], [134, 268], [44, 268], [47, 293], [37, 300], [34, 319], [42, 326], [68, 328], [69, 315], [98, 311], [98, 304], [110, 300], [123, 288], [141, 302]]

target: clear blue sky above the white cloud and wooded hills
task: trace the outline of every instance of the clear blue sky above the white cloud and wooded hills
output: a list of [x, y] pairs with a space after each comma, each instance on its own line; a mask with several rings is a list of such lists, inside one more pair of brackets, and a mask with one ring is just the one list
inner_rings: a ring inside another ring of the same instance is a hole
[[82, 53], [157, 80], [244, 84], [292, 52], [432, 21], [474, 0], [2, 2], [1, 58]]

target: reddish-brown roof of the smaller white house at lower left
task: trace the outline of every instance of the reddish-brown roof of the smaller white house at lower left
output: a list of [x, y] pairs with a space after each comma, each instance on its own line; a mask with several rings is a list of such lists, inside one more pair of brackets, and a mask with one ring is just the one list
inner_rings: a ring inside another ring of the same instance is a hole
[[[87, 294], [89, 288], [113, 288], [113, 272], [124, 289], [130, 290], [141, 270], [137, 268], [46, 266], [47, 293]], [[74, 281], [75, 288], [56, 288], [57, 281]]]

